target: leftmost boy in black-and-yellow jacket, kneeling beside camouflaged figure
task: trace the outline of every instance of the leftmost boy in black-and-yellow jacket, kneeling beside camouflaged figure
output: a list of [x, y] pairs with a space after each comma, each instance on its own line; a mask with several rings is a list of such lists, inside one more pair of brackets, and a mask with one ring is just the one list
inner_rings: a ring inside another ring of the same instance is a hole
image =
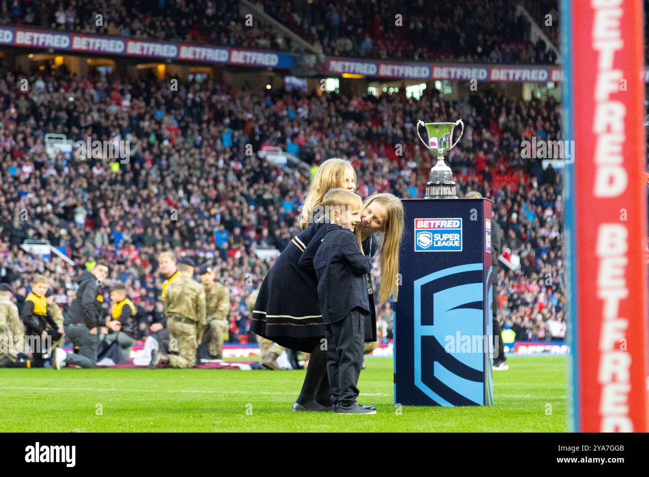
[[[51, 342], [60, 339], [64, 334], [63, 329], [56, 324], [52, 315], [47, 313], [45, 300], [47, 287], [45, 276], [34, 276], [32, 291], [25, 298], [21, 312], [21, 319], [25, 324], [25, 336], [31, 338], [29, 343], [32, 347], [32, 368], [43, 367], [45, 360], [49, 358]], [[51, 337], [50, 341], [48, 341], [48, 337]]]

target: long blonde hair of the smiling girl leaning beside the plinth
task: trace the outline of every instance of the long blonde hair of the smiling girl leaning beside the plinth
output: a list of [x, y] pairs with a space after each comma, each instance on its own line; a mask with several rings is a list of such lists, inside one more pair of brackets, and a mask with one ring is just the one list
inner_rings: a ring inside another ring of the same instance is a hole
[[[404, 232], [404, 206], [401, 199], [392, 194], [382, 193], [370, 195], [363, 202], [365, 210], [372, 202], [385, 206], [387, 219], [384, 225], [385, 238], [381, 246], [379, 260], [381, 264], [381, 284], [378, 289], [378, 300], [386, 302], [392, 295], [397, 301], [399, 293], [399, 247]], [[362, 212], [361, 212], [362, 214]], [[361, 228], [357, 227], [356, 233], [360, 238]]]

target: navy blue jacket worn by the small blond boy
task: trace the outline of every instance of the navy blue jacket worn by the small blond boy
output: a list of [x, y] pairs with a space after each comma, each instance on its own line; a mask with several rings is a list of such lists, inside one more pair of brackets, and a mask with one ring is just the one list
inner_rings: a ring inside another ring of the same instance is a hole
[[356, 236], [336, 224], [324, 225], [321, 243], [312, 240], [298, 262], [308, 267], [309, 247], [317, 247], [313, 269], [318, 278], [318, 298], [323, 323], [336, 323], [354, 308], [369, 313], [365, 275], [372, 269], [372, 259], [361, 252]]

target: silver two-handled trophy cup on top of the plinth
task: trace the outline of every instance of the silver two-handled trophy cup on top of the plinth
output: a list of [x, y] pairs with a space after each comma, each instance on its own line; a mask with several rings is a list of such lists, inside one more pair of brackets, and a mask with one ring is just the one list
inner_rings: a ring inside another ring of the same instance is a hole
[[[453, 141], [453, 130], [457, 125], [462, 130], [455, 142]], [[428, 132], [428, 143], [419, 134], [419, 127], [423, 126]], [[426, 182], [426, 199], [457, 199], [453, 172], [448, 165], [444, 164], [444, 153], [450, 151], [458, 143], [464, 132], [464, 123], [458, 119], [455, 123], [424, 123], [417, 121], [417, 136], [422, 143], [431, 151], [437, 153], [437, 164], [430, 169], [428, 182]]]

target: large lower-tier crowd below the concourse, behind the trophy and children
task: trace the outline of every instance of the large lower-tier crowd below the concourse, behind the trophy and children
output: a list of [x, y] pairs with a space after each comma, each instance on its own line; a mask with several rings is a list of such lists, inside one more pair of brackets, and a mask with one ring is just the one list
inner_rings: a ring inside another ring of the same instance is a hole
[[[486, 91], [469, 101], [448, 101], [439, 92], [419, 101], [404, 94], [260, 94], [206, 82], [171, 92], [153, 78], [79, 80], [64, 69], [27, 79], [25, 92], [16, 72], [0, 69], [0, 281], [11, 284], [19, 306], [30, 278], [42, 274], [65, 312], [77, 287], [73, 277], [105, 260], [109, 282], [125, 283], [138, 308], [143, 339], [162, 313], [157, 256], [172, 250], [214, 265], [230, 291], [229, 341], [245, 343], [245, 299], [272, 264], [256, 251], [286, 247], [309, 183], [299, 171], [247, 155], [245, 145], [278, 145], [313, 165], [347, 156], [362, 197], [422, 197], [432, 160], [413, 125], [461, 117], [467, 128], [448, 161], [461, 194], [478, 190], [495, 201], [506, 257], [520, 257], [519, 269], [500, 271], [500, 316], [520, 339], [563, 337], [554, 324], [563, 321], [565, 302], [559, 177], [519, 151], [520, 140], [532, 135], [559, 138], [553, 99]], [[52, 132], [73, 141], [130, 141], [130, 158], [48, 156], [44, 136]], [[75, 265], [56, 256], [43, 262], [19, 248], [25, 239], [47, 239]], [[387, 341], [391, 306], [378, 308]]]

